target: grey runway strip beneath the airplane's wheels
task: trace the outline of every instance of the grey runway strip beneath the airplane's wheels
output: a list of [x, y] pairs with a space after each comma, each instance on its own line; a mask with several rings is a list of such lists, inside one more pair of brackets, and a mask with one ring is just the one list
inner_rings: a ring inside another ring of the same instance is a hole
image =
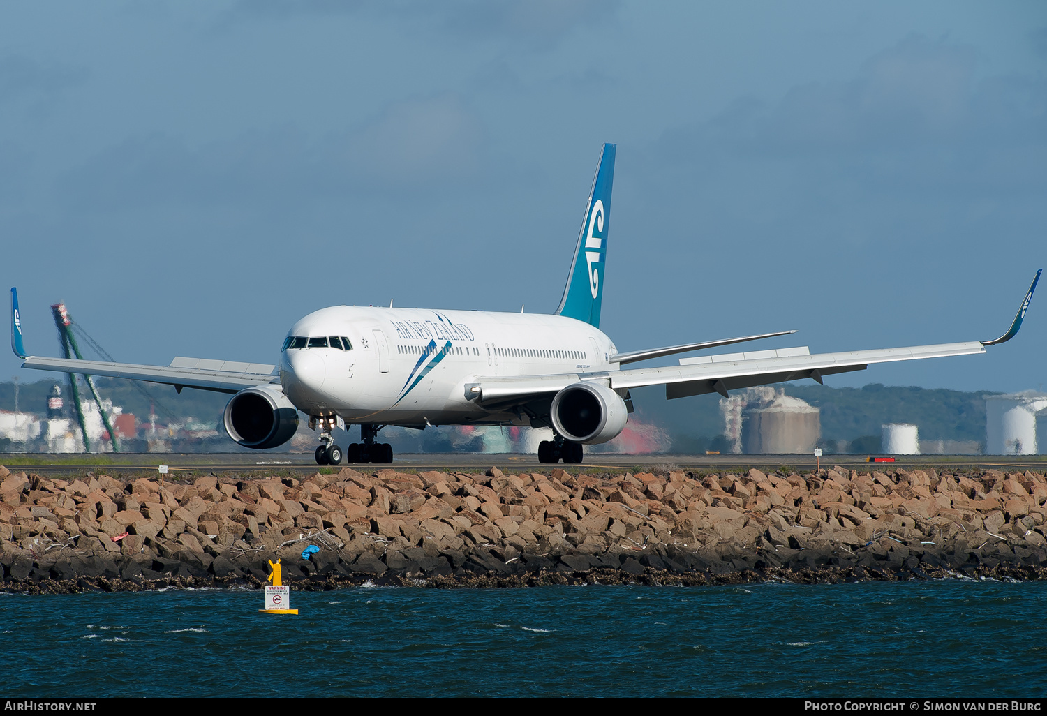
[[[920, 467], [950, 470], [996, 469], [1003, 471], [1047, 470], [1047, 455], [900, 455], [894, 463], [870, 464], [868, 455], [823, 455], [821, 467], [839, 465], [866, 472], [894, 467], [917, 469]], [[95, 460], [96, 458], [96, 460]], [[57, 455], [9, 453], [0, 454], [0, 465], [9, 470], [36, 472], [60, 476], [84, 474], [88, 471], [111, 475], [156, 475], [160, 465], [169, 466], [169, 474], [228, 474], [228, 473], [302, 473], [317, 470], [331, 471], [333, 466], [316, 465], [312, 453], [121, 453], [105, 455]], [[346, 464], [342, 464], [346, 466]], [[654, 470], [684, 470], [705, 472], [743, 472], [749, 468], [774, 471], [792, 467], [797, 471], [814, 470], [812, 455], [621, 455], [589, 454], [581, 465], [543, 465], [537, 455], [517, 453], [427, 453], [399, 454], [392, 465], [350, 465], [361, 472], [393, 468], [406, 472], [447, 470], [482, 472], [497, 466], [507, 472], [549, 472], [561, 467], [571, 472], [649, 472]]]

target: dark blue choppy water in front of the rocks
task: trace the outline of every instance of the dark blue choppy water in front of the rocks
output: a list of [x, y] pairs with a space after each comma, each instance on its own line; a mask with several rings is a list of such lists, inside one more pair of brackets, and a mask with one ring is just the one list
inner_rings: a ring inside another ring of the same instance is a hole
[[4, 696], [1043, 696], [1047, 584], [0, 595]]

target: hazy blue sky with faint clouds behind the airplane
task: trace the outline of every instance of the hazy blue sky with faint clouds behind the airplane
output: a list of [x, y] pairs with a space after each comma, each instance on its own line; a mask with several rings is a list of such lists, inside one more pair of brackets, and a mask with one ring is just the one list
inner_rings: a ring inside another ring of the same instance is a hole
[[[1045, 70], [1043, 2], [8, 3], [0, 270], [30, 352], [62, 299], [128, 362], [552, 311], [614, 141], [619, 349], [987, 339], [1047, 264]], [[988, 356], [828, 382], [1039, 387], [1041, 291]]]

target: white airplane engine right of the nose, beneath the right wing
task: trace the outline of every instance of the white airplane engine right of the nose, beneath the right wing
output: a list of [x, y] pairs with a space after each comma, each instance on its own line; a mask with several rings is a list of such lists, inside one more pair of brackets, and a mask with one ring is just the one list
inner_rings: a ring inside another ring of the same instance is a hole
[[556, 394], [553, 427], [575, 443], [606, 443], [625, 429], [629, 411], [617, 393], [599, 383], [572, 383]]

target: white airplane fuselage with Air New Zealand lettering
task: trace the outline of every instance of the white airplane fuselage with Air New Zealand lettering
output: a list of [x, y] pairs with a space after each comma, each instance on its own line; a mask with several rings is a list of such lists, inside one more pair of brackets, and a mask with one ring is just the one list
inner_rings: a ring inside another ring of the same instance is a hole
[[288, 332], [333, 336], [352, 348], [285, 349], [281, 383], [303, 412], [347, 423], [525, 423], [485, 410], [467, 386], [478, 378], [618, 370], [606, 335], [557, 315], [336, 306]]

